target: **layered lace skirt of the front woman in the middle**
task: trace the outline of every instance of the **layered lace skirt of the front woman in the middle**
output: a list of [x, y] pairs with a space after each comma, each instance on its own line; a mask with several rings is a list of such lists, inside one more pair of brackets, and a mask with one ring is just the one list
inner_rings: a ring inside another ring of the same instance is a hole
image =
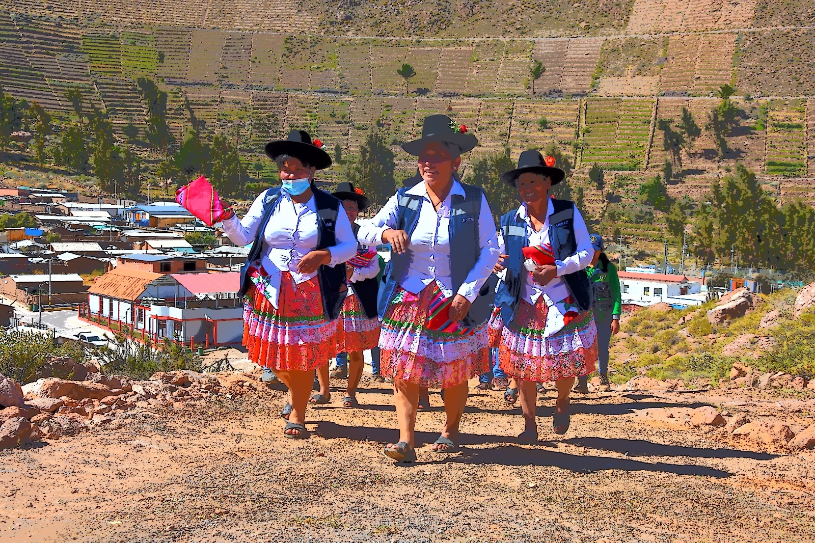
[[487, 323], [466, 334], [426, 327], [437, 289], [431, 284], [418, 295], [397, 289], [379, 338], [383, 377], [449, 388], [487, 372]]

